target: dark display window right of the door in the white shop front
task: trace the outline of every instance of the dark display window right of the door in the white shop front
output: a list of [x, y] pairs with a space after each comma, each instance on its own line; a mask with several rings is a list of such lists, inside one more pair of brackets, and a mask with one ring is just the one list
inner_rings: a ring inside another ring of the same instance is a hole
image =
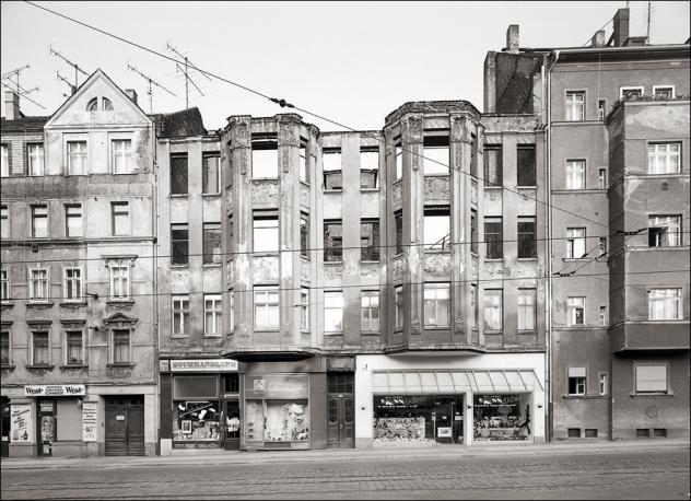
[[[476, 395], [476, 441], [528, 440], [531, 434], [529, 395]], [[522, 409], [524, 411], [522, 412]]]

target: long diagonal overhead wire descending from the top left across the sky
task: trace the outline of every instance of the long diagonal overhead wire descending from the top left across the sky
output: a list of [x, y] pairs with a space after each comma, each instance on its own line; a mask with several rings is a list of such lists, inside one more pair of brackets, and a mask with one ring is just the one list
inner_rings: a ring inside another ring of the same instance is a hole
[[[30, 5], [33, 5], [33, 7], [35, 7], [35, 8], [42, 9], [42, 10], [44, 10], [44, 11], [46, 11], [46, 12], [49, 12], [49, 13], [51, 13], [51, 14], [54, 14], [54, 15], [57, 15], [57, 16], [59, 16], [59, 18], [66, 19], [66, 20], [68, 20], [68, 21], [70, 21], [70, 22], [72, 22], [72, 23], [80, 24], [80, 25], [82, 25], [82, 26], [84, 26], [84, 27], [87, 27], [89, 30], [93, 30], [93, 31], [95, 31], [95, 32], [98, 32], [98, 33], [101, 33], [101, 34], [103, 34], [103, 35], [106, 35], [106, 36], [109, 36], [109, 37], [112, 37], [112, 38], [115, 38], [115, 39], [117, 39], [117, 40], [119, 40], [119, 42], [122, 42], [122, 43], [125, 43], [125, 44], [128, 44], [128, 45], [131, 45], [131, 46], [133, 46], [133, 47], [137, 47], [137, 48], [140, 48], [140, 49], [142, 49], [142, 50], [145, 50], [145, 51], [148, 51], [148, 53], [150, 53], [150, 54], [153, 54], [153, 55], [155, 55], [155, 56], [159, 56], [159, 57], [162, 57], [162, 58], [164, 58], [164, 59], [167, 59], [167, 60], [174, 61], [174, 62], [176, 62], [176, 63], [178, 63], [178, 65], [185, 65], [185, 62], [186, 62], [185, 60], [178, 60], [178, 59], [176, 59], [176, 58], [174, 58], [174, 57], [166, 56], [165, 54], [159, 53], [157, 50], [154, 50], [154, 49], [152, 49], [152, 48], [145, 47], [145, 46], [143, 46], [143, 45], [141, 45], [141, 44], [138, 44], [138, 43], [136, 43], [136, 42], [129, 40], [129, 39], [124, 38], [124, 37], [121, 37], [121, 36], [115, 35], [115, 34], [113, 34], [113, 33], [110, 33], [110, 32], [107, 32], [107, 31], [105, 31], [105, 30], [101, 30], [101, 28], [98, 28], [98, 27], [96, 27], [96, 26], [93, 26], [93, 25], [91, 25], [91, 24], [87, 24], [87, 23], [84, 23], [84, 22], [82, 22], [82, 21], [75, 20], [75, 19], [70, 18], [70, 16], [68, 16], [68, 15], [61, 14], [61, 13], [59, 13], [59, 12], [57, 12], [57, 11], [54, 11], [54, 10], [51, 10], [51, 9], [48, 9], [48, 8], [46, 8], [46, 7], [38, 5], [37, 3], [34, 3], [34, 2], [32, 2], [32, 1], [30, 1], [30, 0], [24, 0], [24, 2], [25, 2], [25, 3], [28, 3]], [[321, 119], [321, 120], [324, 120], [324, 121], [327, 121], [327, 123], [329, 123], [329, 124], [333, 124], [333, 125], [336, 125], [336, 126], [338, 126], [338, 127], [342, 127], [342, 128], [348, 129], [348, 130], [353, 131], [353, 132], [360, 132], [360, 133], [362, 133], [362, 135], [363, 135], [363, 136], [365, 136], [365, 137], [371, 137], [371, 138], [373, 138], [373, 139], [376, 139], [378, 142], [382, 142], [382, 143], [384, 143], [384, 144], [387, 144], [387, 145], [394, 145], [394, 147], [396, 147], [396, 144], [393, 144], [391, 142], [386, 141], [385, 139], [382, 139], [378, 135], [377, 135], [377, 136], [374, 136], [374, 135], [371, 135], [371, 133], [367, 133], [367, 132], [360, 131], [360, 130], [354, 129], [354, 128], [352, 128], [352, 127], [350, 127], [350, 126], [347, 126], [347, 125], [344, 125], [344, 124], [341, 124], [341, 123], [339, 123], [339, 121], [336, 121], [336, 120], [333, 120], [333, 119], [330, 119], [330, 118], [328, 118], [328, 117], [325, 117], [325, 116], [319, 115], [319, 114], [317, 114], [317, 113], [311, 112], [311, 110], [308, 110], [308, 109], [306, 109], [306, 108], [302, 108], [302, 107], [300, 107], [300, 106], [295, 106], [295, 105], [293, 105], [293, 104], [291, 104], [291, 103], [286, 102], [284, 98], [271, 97], [271, 96], [269, 96], [269, 95], [267, 95], [267, 94], [265, 94], [265, 93], [262, 93], [262, 92], [260, 92], [260, 91], [257, 91], [257, 90], [255, 90], [255, 89], [248, 88], [248, 86], [243, 85], [243, 84], [241, 84], [241, 83], [234, 82], [234, 81], [229, 80], [229, 79], [226, 79], [226, 78], [220, 77], [220, 75], [218, 75], [218, 74], [215, 74], [215, 73], [212, 73], [211, 71], [206, 71], [206, 70], [202, 70], [201, 68], [199, 68], [199, 67], [197, 67], [197, 66], [192, 65], [192, 63], [191, 63], [191, 62], [189, 62], [189, 61], [187, 61], [187, 66], [188, 66], [189, 68], [191, 68], [191, 69], [194, 69], [194, 70], [196, 70], [196, 71], [200, 72], [200, 73], [206, 73], [208, 77], [212, 77], [212, 78], [214, 78], [214, 79], [216, 79], [216, 80], [221, 80], [222, 82], [229, 83], [229, 84], [234, 85], [234, 86], [236, 86], [236, 88], [238, 88], [238, 89], [243, 89], [243, 90], [245, 90], [245, 91], [247, 91], [247, 92], [250, 92], [250, 93], [253, 93], [253, 94], [255, 94], [255, 95], [258, 95], [258, 96], [260, 96], [260, 97], [263, 97], [265, 100], [268, 100], [268, 101], [270, 101], [270, 102], [272, 102], [272, 103], [276, 103], [276, 104], [278, 104], [278, 105], [279, 105], [279, 106], [281, 106], [281, 107], [288, 107], [288, 108], [296, 109], [296, 110], [298, 110], [298, 112], [303, 112], [303, 113], [304, 113], [304, 114], [306, 114], [306, 115], [313, 116], [313, 117], [315, 117], [315, 118], [319, 118], [319, 119]], [[437, 161], [437, 160], [434, 160], [434, 159], [429, 159], [429, 158], [426, 158], [426, 156], [424, 156], [424, 155], [421, 155], [421, 154], [419, 154], [419, 153], [417, 153], [417, 152], [414, 152], [414, 151], [412, 151], [412, 150], [408, 150], [408, 149], [405, 149], [405, 148], [401, 148], [401, 150], [402, 150], [402, 151], [406, 151], [406, 152], [408, 152], [408, 153], [410, 153], [410, 154], [413, 154], [413, 155], [415, 155], [415, 156], [422, 158], [423, 160], [426, 160], [426, 161], [430, 161], [430, 162], [436, 163], [436, 164], [438, 164], [438, 165], [442, 165], [442, 166], [444, 166], [444, 167], [446, 167], [446, 168], [457, 171], [457, 172], [461, 173], [462, 175], [470, 176], [471, 178], [473, 178], [473, 179], [476, 179], [476, 180], [481, 180], [481, 182], [483, 182], [483, 183], [484, 183], [484, 178], [482, 178], [482, 177], [480, 177], [480, 176], [477, 176], [477, 175], [475, 175], [475, 174], [470, 174], [470, 173], [464, 172], [462, 170], [457, 168], [457, 167], [452, 167], [450, 165], [444, 164], [443, 162], [440, 162], [440, 161]], [[530, 196], [528, 196], [528, 195], [522, 194], [520, 191], [517, 191], [517, 190], [514, 190], [514, 189], [507, 188], [507, 187], [505, 187], [505, 186], [501, 186], [501, 188], [502, 188], [503, 190], [508, 191], [508, 193], [513, 193], [513, 194], [515, 194], [515, 195], [518, 195], [518, 196], [520, 196], [520, 197], [523, 197], [523, 198], [525, 198], [525, 199], [528, 199], [528, 200], [534, 200], [534, 201], [536, 201], [536, 202], [538, 202], [538, 203], [541, 203], [541, 205], [543, 205], [543, 206], [546, 206], [546, 207], [551, 207], [552, 209], [555, 209], [555, 210], [562, 211], [562, 212], [567, 213], [567, 214], [570, 214], [570, 215], [574, 215], [574, 217], [576, 217], [576, 218], [578, 218], [578, 219], [582, 219], [582, 220], [584, 220], [584, 221], [588, 221], [588, 222], [590, 222], [590, 223], [593, 223], [593, 224], [597, 224], [597, 225], [602, 226], [602, 228], [607, 228], [607, 229], [609, 230], [609, 224], [605, 224], [605, 223], [601, 223], [601, 222], [599, 222], [599, 221], [596, 221], [596, 220], [593, 220], [593, 219], [586, 218], [585, 215], [578, 214], [578, 213], [573, 212], [573, 211], [570, 211], [570, 210], [567, 210], [567, 209], [563, 209], [563, 208], [560, 208], [560, 207], [557, 207], [557, 206], [554, 206], [554, 205], [552, 205], [552, 203], [546, 202], [546, 201], [543, 201], [543, 200], [539, 200], [539, 199], [537, 199], [537, 198], [534, 198], [534, 197], [530, 197]]]

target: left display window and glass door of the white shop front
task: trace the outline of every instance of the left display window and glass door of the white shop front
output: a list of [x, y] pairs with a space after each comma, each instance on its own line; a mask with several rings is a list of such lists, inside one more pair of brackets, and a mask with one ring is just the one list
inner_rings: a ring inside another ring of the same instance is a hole
[[376, 445], [459, 444], [462, 441], [462, 395], [374, 396]]

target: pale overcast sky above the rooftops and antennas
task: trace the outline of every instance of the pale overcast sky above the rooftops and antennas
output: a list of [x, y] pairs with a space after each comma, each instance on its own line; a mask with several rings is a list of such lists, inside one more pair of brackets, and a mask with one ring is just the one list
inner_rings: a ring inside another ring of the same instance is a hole
[[[522, 47], [582, 46], [611, 20], [617, 2], [37, 2], [169, 56], [166, 43], [198, 67], [346, 124], [380, 129], [407, 101], [468, 100], [482, 109], [488, 50], [501, 50], [510, 24]], [[652, 2], [651, 42], [689, 38], [689, 2]], [[647, 2], [630, 2], [631, 35], [645, 35]], [[1, 70], [24, 65], [20, 84], [39, 86], [22, 101], [26, 115], [50, 115], [69, 93], [56, 79], [103, 69], [134, 89], [149, 113], [148, 84], [131, 65], [177, 97], [153, 88], [154, 113], [185, 108], [185, 81], [175, 63], [73, 24], [31, 4], [2, 1]], [[607, 36], [611, 34], [611, 22]], [[191, 73], [190, 106], [208, 129], [230, 115], [271, 116], [282, 109], [220, 81]], [[79, 77], [83, 82], [85, 77]], [[4, 81], [3, 81], [4, 82]], [[2, 108], [4, 116], [4, 106]], [[304, 116], [321, 130], [338, 127]]]

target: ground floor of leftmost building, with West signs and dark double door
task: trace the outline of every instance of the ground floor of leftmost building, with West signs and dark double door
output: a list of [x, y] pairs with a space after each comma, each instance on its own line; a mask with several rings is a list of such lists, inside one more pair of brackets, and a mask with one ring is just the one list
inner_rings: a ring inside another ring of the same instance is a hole
[[155, 385], [2, 387], [2, 456], [156, 453]]

